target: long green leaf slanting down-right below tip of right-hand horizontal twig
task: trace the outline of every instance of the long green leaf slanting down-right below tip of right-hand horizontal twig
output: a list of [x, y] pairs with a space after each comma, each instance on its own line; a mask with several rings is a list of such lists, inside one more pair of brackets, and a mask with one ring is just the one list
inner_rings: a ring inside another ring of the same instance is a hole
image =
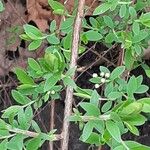
[[115, 139], [117, 142], [121, 142], [121, 133], [117, 124], [113, 121], [106, 121], [106, 129], [108, 130], [109, 134]]

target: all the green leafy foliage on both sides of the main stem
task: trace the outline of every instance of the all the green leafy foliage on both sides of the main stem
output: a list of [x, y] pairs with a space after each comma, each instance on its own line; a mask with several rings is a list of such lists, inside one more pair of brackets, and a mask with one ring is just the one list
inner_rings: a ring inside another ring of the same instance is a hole
[[[42, 42], [50, 46], [42, 58], [29, 58], [26, 70], [16, 68], [14, 71], [20, 81], [17, 89], [12, 90], [17, 104], [2, 111], [0, 149], [39, 149], [46, 140], [55, 140], [55, 131], [43, 133], [34, 120], [34, 113], [44, 103], [59, 99], [60, 92], [71, 86], [75, 96], [85, 99], [68, 118], [79, 123], [82, 130], [80, 140], [97, 146], [107, 144], [114, 150], [149, 150], [147, 146], [122, 139], [127, 132], [139, 135], [138, 126], [147, 121], [144, 113], [150, 113], [150, 98], [136, 99], [136, 94], [149, 90], [143, 84], [143, 77], [124, 77], [126, 71], [138, 65], [142, 65], [150, 76], [149, 67], [140, 59], [150, 40], [150, 13], [143, 11], [147, 3], [107, 0], [95, 8], [89, 21], [83, 19], [82, 28], [85, 30], [81, 31], [79, 54], [85, 52], [89, 41], [102, 42], [108, 48], [115, 43], [125, 51], [123, 66], [113, 71], [100, 66], [99, 74], [93, 74], [90, 79], [95, 88], [105, 85], [101, 95], [95, 89], [78, 87], [71, 78], [76, 68], [68, 69], [74, 13], [70, 15], [58, 1], [48, 0], [48, 3], [55, 14], [66, 16], [59, 27], [63, 36], [59, 36], [55, 20], [50, 24], [49, 33], [42, 33], [28, 24], [23, 26], [24, 34], [20, 37], [30, 43], [29, 51], [38, 49]], [[0, 11], [3, 9], [0, 1]]]

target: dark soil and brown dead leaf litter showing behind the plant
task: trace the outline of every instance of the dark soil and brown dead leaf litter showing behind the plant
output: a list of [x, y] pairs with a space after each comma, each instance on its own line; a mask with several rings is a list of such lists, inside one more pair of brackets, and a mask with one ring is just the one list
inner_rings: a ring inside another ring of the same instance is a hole
[[[34, 0], [33, 0], [34, 1]], [[33, 2], [32, 1], [32, 2]], [[47, 9], [47, 5], [45, 3], [40, 3], [41, 0], [37, 1], [38, 4], [30, 7], [30, 3], [26, 3], [26, 0], [5, 0], [5, 12], [0, 14], [0, 110], [7, 108], [8, 106], [14, 103], [11, 98], [11, 90], [16, 88], [17, 80], [15, 75], [12, 73], [12, 70], [16, 66], [26, 67], [27, 58], [29, 57], [40, 57], [37, 53], [30, 53], [27, 51], [27, 44], [24, 41], [19, 40], [19, 34], [22, 33], [22, 28], [20, 27], [27, 23], [35, 23], [42, 31], [47, 29], [47, 25], [49, 20], [47, 17], [51, 16], [51, 12]], [[90, 1], [91, 3], [91, 1]], [[44, 6], [44, 7], [41, 7]], [[96, 5], [96, 4], [95, 4]], [[32, 10], [31, 10], [32, 9]], [[42, 12], [40, 15], [42, 17], [32, 16], [30, 11], [38, 11], [41, 9]], [[91, 10], [92, 11], [92, 10]], [[90, 14], [90, 13], [89, 13]], [[18, 27], [17, 31], [10, 32], [9, 29], [13, 27]], [[15, 41], [11, 41], [15, 38]], [[8, 42], [11, 42], [8, 44]], [[89, 82], [91, 78], [91, 74], [99, 72], [99, 65], [103, 65], [112, 70], [117, 65], [117, 60], [119, 56], [119, 49], [115, 47], [108, 51], [101, 43], [88, 43], [87, 44], [87, 52], [79, 57], [78, 67], [80, 71], [77, 73], [77, 84], [82, 88], [93, 88], [93, 84]], [[108, 51], [106, 53], [106, 51]], [[106, 53], [106, 54], [105, 54]], [[105, 54], [105, 55], [104, 55]], [[101, 57], [103, 55], [103, 57]], [[98, 61], [96, 61], [98, 60]], [[96, 62], [96, 63], [95, 63]], [[147, 64], [150, 65], [149, 60], [147, 60]], [[150, 79], [147, 78], [142, 68], [137, 68], [132, 71], [135, 76], [143, 75], [144, 83], [149, 86]], [[98, 91], [101, 92], [100, 90]], [[150, 94], [150, 91], [149, 91]], [[62, 129], [62, 121], [63, 121], [63, 110], [64, 110], [64, 95], [62, 93], [62, 98], [60, 101], [56, 101], [55, 107], [55, 127], [57, 129], [57, 133], [61, 132]], [[138, 96], [138, 95], [137, 95]], [[139, 97], [139, 96], [138, 96]], [[140, 97], [139, 97], [140, 98]], [[77, 105], [80, 100], [75, 98], [74, 105]], [[49, 131], [50, 124], [50, 104], [45, 104], [39, 116], [36, 117], [36, 120], [39, 122], [40, 127], [43, 131]], [[149, 116], [150, 118], [150, 116]], [[44, 124], [44, 125], [43, 125]], [[140, 136], [135, 137], [133, 135], [125, 135], [125, 139], [132, 139], [139, 141], [142, 144], [150, 146], [150, 122], [144, 126], [139, 127]], [[96, 147], [90, 147], [88, 144], [84, 144], [79, 140], [80, 131], [78, 125], [71, 124], [70, 127], [70, 141], [69, 141], [69, 150], [96, 150]], [[42, 147], [43, 150], [47, 150], [48, 143], [45, 143]], [[54, 149], [59, 150], [60, 142], [54, 142]], [[103, 150], [107, 150], [107, 147], [104, 147]]]

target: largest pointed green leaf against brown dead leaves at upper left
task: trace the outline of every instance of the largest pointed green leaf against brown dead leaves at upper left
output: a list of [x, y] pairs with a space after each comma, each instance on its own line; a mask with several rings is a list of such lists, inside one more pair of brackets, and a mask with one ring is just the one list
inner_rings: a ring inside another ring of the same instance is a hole
[[44, 38], [42, 32], [32, 25], [25, 24], [23, 28], [25, 33], [33, 40], [40, 40]]

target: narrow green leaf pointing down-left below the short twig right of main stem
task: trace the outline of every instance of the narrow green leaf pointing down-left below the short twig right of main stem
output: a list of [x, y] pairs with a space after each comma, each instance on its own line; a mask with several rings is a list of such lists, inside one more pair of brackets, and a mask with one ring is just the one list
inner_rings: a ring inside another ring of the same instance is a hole
[[92, 131], [93, 131], [93, 122], [88, 121], [85, 124], [85, 126], [83, 128], [82, 135], [81, 135], [81, 138], [82, 138], [83, 142], [85, 142], [90, 137], [90, 135], [92, 134]]

